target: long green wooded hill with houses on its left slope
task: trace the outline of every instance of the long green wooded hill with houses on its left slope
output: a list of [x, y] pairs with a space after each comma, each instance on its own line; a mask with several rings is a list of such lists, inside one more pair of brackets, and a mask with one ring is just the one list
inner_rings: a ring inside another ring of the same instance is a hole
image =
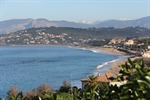
[[87, 45], [91, 41], [106, 42], [112, 38], [149, 37], [150, 30], [128, 28], [30, 28], [0, 35], [0, 45]]

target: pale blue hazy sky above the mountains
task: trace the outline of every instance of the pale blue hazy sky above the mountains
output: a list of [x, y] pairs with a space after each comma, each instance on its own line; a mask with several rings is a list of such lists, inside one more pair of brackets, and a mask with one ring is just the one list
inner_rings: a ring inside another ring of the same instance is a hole
[[150, 0], [0, 0], [0, 21], [24, 18], [90, 21], [150, 16]]

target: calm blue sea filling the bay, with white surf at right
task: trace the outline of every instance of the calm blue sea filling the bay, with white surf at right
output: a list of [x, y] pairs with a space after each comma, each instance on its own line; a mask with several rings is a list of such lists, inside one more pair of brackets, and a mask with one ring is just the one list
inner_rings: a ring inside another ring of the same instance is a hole
[[46, 83], [58, 90], [66, 80], [81, 88], [81, 79], [104, 74], [112, 62], [125, 58], [68, 46], [0, 46], [0, 98], [11, 86], [25, 92]]

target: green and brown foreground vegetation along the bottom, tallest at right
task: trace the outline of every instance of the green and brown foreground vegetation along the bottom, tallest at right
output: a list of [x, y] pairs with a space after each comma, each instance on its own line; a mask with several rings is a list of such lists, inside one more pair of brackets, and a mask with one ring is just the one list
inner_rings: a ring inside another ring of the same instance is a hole
[[25, 93], [11, 87], [6, 100], [150, 100], [150, 69], [143, 60], [128, 59], [120, 69], [119, 74], [110, 79], [127, 81], [121, 86], [97, 82], [97, 77], [92, 75], [84, 89], [71, 87], [67, 81], [56, 92], [45, 83]]

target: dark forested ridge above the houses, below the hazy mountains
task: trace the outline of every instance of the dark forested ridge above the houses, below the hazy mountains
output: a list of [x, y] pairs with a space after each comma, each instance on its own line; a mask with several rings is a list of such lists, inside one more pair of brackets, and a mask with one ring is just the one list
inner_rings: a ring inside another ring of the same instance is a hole
[[116, 37], [139, 37], [150, 35], [150, 30], [142, 27], [127, 27], [127, 28], [73, 28], [73, 27], [45, 27], [45, 28], [30, 28], [28, 33], [34, 34], [36, 30], [42, 30], [45, 33], [59, 35], [67, 33], [69, 36], [76, 38], [102, 38], [111, 39]]

